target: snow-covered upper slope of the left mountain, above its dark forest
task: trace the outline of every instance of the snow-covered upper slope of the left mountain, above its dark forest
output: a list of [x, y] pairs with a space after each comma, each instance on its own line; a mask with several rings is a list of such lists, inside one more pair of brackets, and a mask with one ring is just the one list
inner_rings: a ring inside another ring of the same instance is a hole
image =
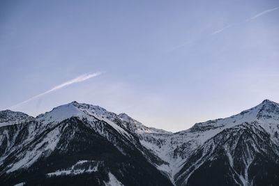
[[[13, 114], [11, 111], [9, 111], [9, 115], [17, 116], [18, 113]], [[22, 115], [23, 114], [21, 114], [20, 116]], [[23, 153], [17, 155], [17, 158], [13, 161], [13, 164], [10, 164], [8, 166], [9, 169], [6, 171], [13, 172], [17, 169], [28, 168], [41, 156], [49, 155], [56, 148], [61, 136], [61, 130], [63, 130], [62, 125], [59, 125], [59, 123], [72, 117], [77, 117], [80, 118], [80, 120], [85, 120], [91, 125], [91, 127], [98, 131], [99, 134], [101, 134], [103, 137], [107, 137], [107, 139], [111, 142], [114, 142], [114, 139], [112, 139], [112, 136], [108, 134], [107, 130], [103, 130], [105, 125], [110, 125], [110, 127], [113, 127], [114, 130], [121, 134], [121, 136], [134, 141], [135, 139], [133, 139], [133, 136], [131, 134], [124, 130], [123, 127], [116, 125], [116, 123], [113, 123], [110, 120], [113, 116], [116, 116], [116, 114], [112, 114], [98, 106], [71, 102], [70, 104], [56, 107], [52, 109], [52, 111], [45, 114], [40, 114], [36, 117], [35, 120], [33, 119], [34, 122], [30, 125], [15, 125], [15, 127], [20, 126], [23, 128], [15, 131], [15, 134], [13, 136], [10, 136], [6, 131], [0, 134], [0, 140], [2, 139], [1, 141], [10, 139], [8, 143], [6, 143], [9, 147], [7, 147], [5, 150], [6, 153], [4, 155], [6, 156], [3, 157], [3, 160], [5, 160], [5, 157], [8, 157], [13, 149], [16, 150], [16, 148], [11, 148], [10, 145], [15, 144], [13, 140], [16, 139], [17, 135], [20, 135], [19, 132], [25, 130], [25, 127], [30, 128], [25, 133], [26, 137], [24, 137], [24, 139], [26, 140], [22, 141], [22, 144], [26, 145], [27, 147], [23, 151]], [[98, 123], [98, 125], [96, 125], [96, 123]], [[34, 139], [36, 139], [36, 141], [33, 141]], [[2, 142], [2, 145], [3, 144], [4, 143]]]

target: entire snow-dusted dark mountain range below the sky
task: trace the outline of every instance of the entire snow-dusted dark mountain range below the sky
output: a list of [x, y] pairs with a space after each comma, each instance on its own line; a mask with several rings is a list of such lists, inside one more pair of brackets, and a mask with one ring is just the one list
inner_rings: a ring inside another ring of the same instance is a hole
[[71, 102], [0, 111], [0, 185], [279, 185], [279, 104], [167, 132]]

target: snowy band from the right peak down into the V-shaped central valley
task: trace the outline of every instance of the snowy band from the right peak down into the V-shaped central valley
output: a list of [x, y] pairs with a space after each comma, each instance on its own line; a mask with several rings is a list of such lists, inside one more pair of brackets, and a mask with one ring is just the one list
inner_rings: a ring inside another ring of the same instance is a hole
[[240, 114], [228, 118], [220, 118], [204, 123], [196, 123], [188, 130], [171, 133], [139, 132], [141, 144], [160, 157], [168, 165], [158, 167], [166, 171], [174, 182], [174, 176], [188, 157], [201, 147], [206, 141], [223, 130], [256, 121], [270, 134], [274, 144], [279, 146], [279, 104], [264, 100], [252, 109], [242, 111]]

